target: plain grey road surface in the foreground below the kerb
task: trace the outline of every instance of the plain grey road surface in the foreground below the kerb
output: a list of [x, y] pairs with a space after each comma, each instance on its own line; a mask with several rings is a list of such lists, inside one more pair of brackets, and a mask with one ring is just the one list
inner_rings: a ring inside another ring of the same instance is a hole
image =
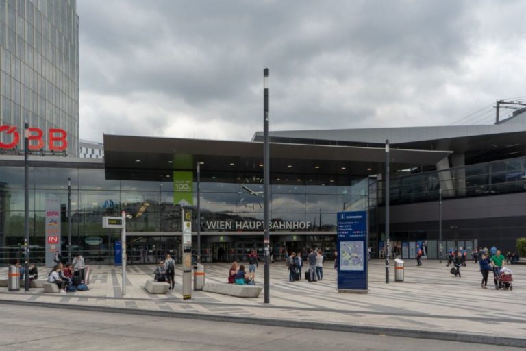
[[[459, 343], [331, 330], [281, 328], [228, 322], [181, 320], [64, 308], [1, 305], [0, 351], [56, 350], [67, 343], [84, 350], [301, 350], [494, 351], [494, 345]], [[31, 315], [31, 318], [27, 318]], [[51, 322], [52, 321], [52, 322]], [[67, 326], [67, 328], [65, 328]], [[21, 332], [29, 330], [29, 332]], [[523, 348], [499, 346], [499, 351]]]

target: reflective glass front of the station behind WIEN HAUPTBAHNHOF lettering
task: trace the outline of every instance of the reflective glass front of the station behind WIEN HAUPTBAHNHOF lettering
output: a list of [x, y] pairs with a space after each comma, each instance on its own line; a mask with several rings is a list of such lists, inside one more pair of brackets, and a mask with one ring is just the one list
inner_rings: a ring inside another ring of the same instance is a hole
[[[73, 252], [82, 252], [91, 260], [111, 262], [112, 245], [120, 239], [120, 231], [103, 229], [102, 217], [119, 216], [121, 210], [125, 210], [132, 215], [132, 219], [127, 220], [127, 233], [132, 238], [128, 239], [130, 260], [154, 262], [156, 258], [149, 258], [149, 254], [155, 256], [154, 252], [158, 252], [157, 255], [162, 256], [172, 250], [177, 255], [181, 206], [174, 204], [171, 178], [166, 177], [163, 182], [106, 180], [102, 163], [66, 163], [68, 165], [53, 168], [29, 168], [29, 236], [35, 260], [43, 258], [46, 199], [50, 197], [60, 199], [62, 252], [67, 256], [68, 178], [71, 178]], [[129, 171], [129, 175], [135, 173]], [[271, 176], [271, 238], [278, 259], [284, 247], [300, 250], [306, 245], [319, 245], [332, 250], [336, 243], [336, 213], [367, 208], [367, 178]], [[225, 261], [241, 259], [252, 247], [262, 249], [263, 180], [260, 177], [201, 173], [203, 261], [221, 259], [221, 254], [225, 255]], [[14, 256], [8, 252], [20, 252], [23, 244], [23, 179], [21, 164], [1, 165], [0, 162], [3, 261], [12, 260]], [[194, 204], [197, 204], [196, 193]], [[196, 232], [197, 211], [193, 209], [192, 228]]]

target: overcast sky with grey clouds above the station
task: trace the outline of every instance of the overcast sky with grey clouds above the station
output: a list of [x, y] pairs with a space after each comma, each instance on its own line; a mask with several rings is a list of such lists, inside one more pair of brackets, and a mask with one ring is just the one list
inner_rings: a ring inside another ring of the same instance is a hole
[[[80, 136], [450, 125], [526, 95], [526, 1], [79, 0]], [[468, 121], [466, 119], [465, 121]]]

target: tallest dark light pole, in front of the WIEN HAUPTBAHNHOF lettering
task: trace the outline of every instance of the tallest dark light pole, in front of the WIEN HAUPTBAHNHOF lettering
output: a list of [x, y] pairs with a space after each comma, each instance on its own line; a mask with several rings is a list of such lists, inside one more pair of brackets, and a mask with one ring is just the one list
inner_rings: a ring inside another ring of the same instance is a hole
[[270, 181], [271, 181], [271, 156], [270, 156], [270, 143], [268, 137], [268, 69], [263, 70], [263, 193], [264, 193], [264, 215], [263, 215], [263, 247], [265, 255], [265, 265], [264, 265], [264, 303], [270, 303], [271, 289], [270, 289], [270, 276], [271, 276], [271, 234], [268, 232], [268, 222], [270, 221], [269, 213], [269, 199], [271, 197], [270, 193]]

